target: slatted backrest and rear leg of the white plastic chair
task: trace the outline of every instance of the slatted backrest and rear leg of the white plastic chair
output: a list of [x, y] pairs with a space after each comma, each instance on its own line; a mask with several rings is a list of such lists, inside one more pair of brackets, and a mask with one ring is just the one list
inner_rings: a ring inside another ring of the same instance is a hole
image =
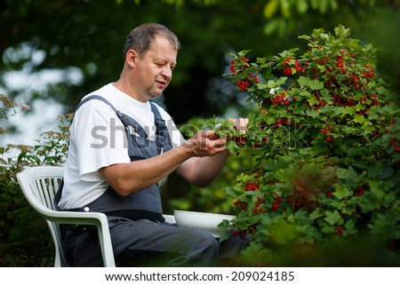
[[44, 216], [54, 241], [54, 266], [68, 266], [61, 247], [60, 228], [46, 217], [54, 208], [54, 194], [60, 186], [63, 168], [57, 166], [33, 167], [17, 174], [22, 193], [29, 204]]

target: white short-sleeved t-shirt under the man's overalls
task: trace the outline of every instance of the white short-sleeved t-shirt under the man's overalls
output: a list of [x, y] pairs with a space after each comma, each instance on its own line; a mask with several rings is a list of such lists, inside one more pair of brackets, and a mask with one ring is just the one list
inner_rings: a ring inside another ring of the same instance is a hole
[[[107, 99], [116, 110], [140, 123], [148, 133], [148, 139], [155, 139], [156, 126], [150, 102], [132, 99], [117, 90], [113, 83], [108, 83], [87, 96], [90, 95], [100, 95]], [[172, 117], [162, 107], [157, 107], [167, 125], [172, 146], [180, 146], [184, 139]], [[100, 168], [128, 162], [131, 160], [124, 125], [114, 110], [99, 99], [85, 102], [76, 111], [70, 127], [60, 209], [82, 207], [97, 199], [108, 188], [107, 181], [100, 177]]]

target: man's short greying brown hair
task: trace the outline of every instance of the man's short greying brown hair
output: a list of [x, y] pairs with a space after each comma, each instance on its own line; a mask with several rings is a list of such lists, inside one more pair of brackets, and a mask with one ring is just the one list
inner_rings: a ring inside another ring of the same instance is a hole
[[124, 57], [128, 50], [135, 50], [142, 57], [150, 48], [150, 44], [154, 41], [156, 36], [164, 36], [178, 51], [180, 50], [180, 41], [178, 36], [163, 25], [157, 23], [147, 23], [133, 28], [132, 31], [126, 36], [124, 44]]

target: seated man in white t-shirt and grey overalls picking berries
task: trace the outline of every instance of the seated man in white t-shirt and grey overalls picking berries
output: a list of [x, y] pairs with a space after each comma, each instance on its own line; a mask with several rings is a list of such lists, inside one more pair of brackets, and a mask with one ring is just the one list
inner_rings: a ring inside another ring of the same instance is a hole
[[[207, 186], [228, 158], [225, 140], [213, 131], [185, 141], [171, 116], [150, 102], [171, 82], [179, 49], [178, 38], [162, 25], [134, 28], [124, 45], [119, 80], [88, 94], [70, 128], [58, 206], [106, 213], [116, 265], [163, 260], [170, 266], [212, 266], [247, 244], [234, 237], [219, 243], [162, 216], [159, 181], [176, 171], [196, 186]], [[245, 129], [247, 120], [236, 121]], [[70, 265], [102, 265], [91, 227], [62, 226], [61, 233]]]

